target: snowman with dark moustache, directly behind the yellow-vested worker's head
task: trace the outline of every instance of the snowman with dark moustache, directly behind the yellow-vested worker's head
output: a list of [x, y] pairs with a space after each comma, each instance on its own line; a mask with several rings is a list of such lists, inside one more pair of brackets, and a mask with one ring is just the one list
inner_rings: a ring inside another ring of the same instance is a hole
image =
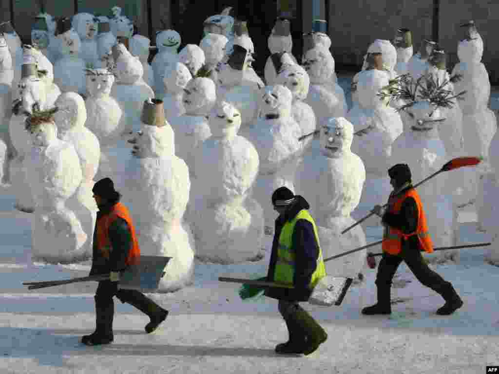
[[269, 196], [281, 186], [294, 190], [294, 172], [302, 151], [298, 140], [302, 132], [292, 117], [292, 100], [289, 88], [266, 86], [259, 103], [260, 115], [245, 132], [260, 161], [253, 196], [263, 208], [266, 233], [271, 232], [275, 219]]

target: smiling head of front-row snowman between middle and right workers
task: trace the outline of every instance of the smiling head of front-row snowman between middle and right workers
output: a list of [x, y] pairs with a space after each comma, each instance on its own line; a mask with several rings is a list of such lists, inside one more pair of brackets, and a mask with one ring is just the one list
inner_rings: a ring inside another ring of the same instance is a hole
[[320, 129], [320, 152], [329, 158], [339, 158], [350, 152], [353, 125], [343, 117], [332, 117]]

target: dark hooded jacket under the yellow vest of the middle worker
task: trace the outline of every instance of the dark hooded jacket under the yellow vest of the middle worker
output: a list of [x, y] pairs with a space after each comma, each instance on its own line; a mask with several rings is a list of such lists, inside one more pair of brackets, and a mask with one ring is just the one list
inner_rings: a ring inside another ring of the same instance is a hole
[[[275, 264], [277, 262], [277, 249], [279, 235], [286, 221], [292, 220], [301, 209], [308, 209], [310, 205], [300, 195], [296, 196], [296, 202], [284, 215], [279, 215], [275, 220], [274, 238], [272, 241], [272, 253], [268, 266], [267, 281], [273, 282]], [[308, 287], [312, 274], [317, 267], [319, 257], [319, 245], [315, 240], [313, 225], [304, 219], [298, 219], [293, 230], [293, 250], [295, 253], [295, 269], [293, 276], [294, 289], [268, 288], [265, 296], [278, 300], [308, 301], [312, 290]]]

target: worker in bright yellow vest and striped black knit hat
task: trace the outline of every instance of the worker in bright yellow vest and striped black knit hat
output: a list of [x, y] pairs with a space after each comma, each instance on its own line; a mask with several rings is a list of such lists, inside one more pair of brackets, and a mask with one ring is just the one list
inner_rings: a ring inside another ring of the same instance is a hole
[[265, 291], [265, 296], [279, 300], [278, 309], [289, 332], [289, 340], [278, 344], [275, 352], [309, 355], [327, 339], [324, 329], [298, 304], [308, 301], [314, 286], [326, 275], [317, 228], [307, 210], [308, 202], [288, 188], [277, 188], [272, 204], [279, 216], [267, 281], [293, 286]]

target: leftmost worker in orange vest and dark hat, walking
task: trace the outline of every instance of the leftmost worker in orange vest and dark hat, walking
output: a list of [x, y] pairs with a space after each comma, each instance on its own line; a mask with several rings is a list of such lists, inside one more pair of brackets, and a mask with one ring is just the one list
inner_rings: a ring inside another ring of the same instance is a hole
[[109, 344], [113, 341], [114, 302], [116, 296], [149, 316], [146, 333], [151, 333], [168, 316], [168, 311], [136, 290], [118, 289], [120, 271], [134, 264], [140, 257], [135, 228], [128, 209], [119, 202], [120, 193], [113, 181], [104, 178], [92, 188], [99, 211], [93, 236], [93, 256], [90, 275], [110, 274], [109, 280], [99, 282], [95, 292], [96, 328], [82, 337], [87, 346]]

